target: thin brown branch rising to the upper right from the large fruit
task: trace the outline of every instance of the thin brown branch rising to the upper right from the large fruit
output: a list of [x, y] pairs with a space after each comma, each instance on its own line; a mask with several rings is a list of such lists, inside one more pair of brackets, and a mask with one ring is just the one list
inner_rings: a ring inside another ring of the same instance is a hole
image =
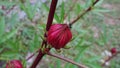
[[95, 2], [93, 2], [93, 4], [88, 7], [83, 13], [81, 13], [80, 15], [78, 15], [73, 21], [70, 22], [70, 25], [74, 24], [76, 21], [78, 21], [81, 17], [83, 17], [87, 12], [91, 11], [92, 7], [98, 2], [99, 0], [96, 0]]

